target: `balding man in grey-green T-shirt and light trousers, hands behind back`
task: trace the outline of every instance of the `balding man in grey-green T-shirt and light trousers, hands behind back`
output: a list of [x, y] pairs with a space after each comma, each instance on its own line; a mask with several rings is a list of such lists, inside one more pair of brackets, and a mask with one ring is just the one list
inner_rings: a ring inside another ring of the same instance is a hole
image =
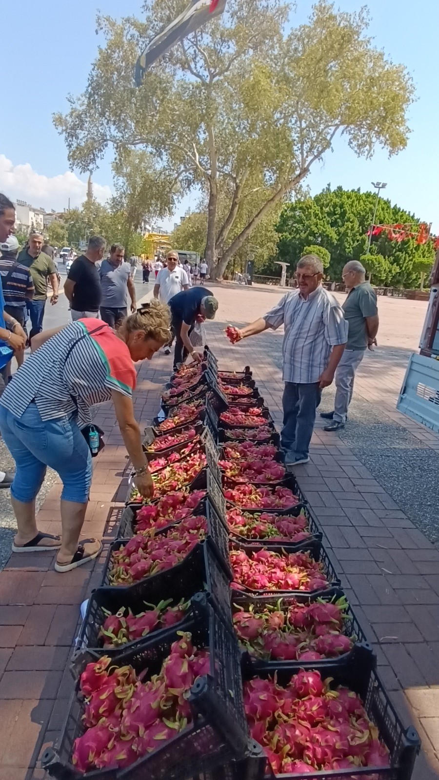
[[341, 431], [348, 417], [348, 406], [354, 391], [355, 371], [359, 367], [366, 347], [377, 344], [379, 325], [377, 293], [366, 282], [366, 269], [357, 260], [346, 263], [341, 272], [348, 296], [342, 305], [348, 321], [348, 343], [335, 372], [334, 411], [322, 412], [323, 420], [332, 420], [324, 431]]

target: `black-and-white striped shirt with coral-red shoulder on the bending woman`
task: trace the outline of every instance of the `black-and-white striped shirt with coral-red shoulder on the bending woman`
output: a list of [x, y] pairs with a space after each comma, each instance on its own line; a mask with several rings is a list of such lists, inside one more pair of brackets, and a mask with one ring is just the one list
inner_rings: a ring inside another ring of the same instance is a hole
[[34, 401], [42, 420], [74, 417], [84, 427], [91, 423], [90, 406], [108, 401], [112, 390], [130, 397], [135, 386], [127, 345], [90, 317], [70, 323], [30, 355], [0, 404], [21, 417]]

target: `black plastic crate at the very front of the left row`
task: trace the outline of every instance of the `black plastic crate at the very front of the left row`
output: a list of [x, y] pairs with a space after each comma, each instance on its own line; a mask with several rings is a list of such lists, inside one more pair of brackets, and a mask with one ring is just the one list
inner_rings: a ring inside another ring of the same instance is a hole
[[[210, 654], [209, 675], [198, 678], [191, 688], [191, 725], [124, 770], [95, 770], [86, 777], [94, 780], [189, 780], [234, 758], [244, 757], [248, 747], [248, 726], [242, 700], [241, 655], [234, 634], [212, 610], [207, 618], [205, 615], [194, 618], [187, 630], [193, 644], [209, 648]], [[148, 647], [126, 651], [117, 658], [117, 665], [131, 665], [137, 675], [146, 671], [146, 681], [159, 673], [162, 661], [170, 654], [171, 644], [178, 638], [174, 631]], [[59, 750], [49, 749], [41, 757], [43, 768], [59, 780], [84, 777], [70, 763], [74, 740], [84, 733], [83, 713], [84, 700], [80, 693], [75, 693], [59, 739]]]

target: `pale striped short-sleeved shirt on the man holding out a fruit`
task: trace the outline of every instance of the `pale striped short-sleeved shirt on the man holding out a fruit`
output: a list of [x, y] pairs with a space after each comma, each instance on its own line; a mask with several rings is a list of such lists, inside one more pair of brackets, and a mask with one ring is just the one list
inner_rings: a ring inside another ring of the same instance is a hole
[[273, 330], [284, 325], [282, 378], [286, 382], [316, 382], [332, 347], [348, 339], [343, 310], [321, 285], [306, 300], [299, 290], [287, 293], [263, 318]]

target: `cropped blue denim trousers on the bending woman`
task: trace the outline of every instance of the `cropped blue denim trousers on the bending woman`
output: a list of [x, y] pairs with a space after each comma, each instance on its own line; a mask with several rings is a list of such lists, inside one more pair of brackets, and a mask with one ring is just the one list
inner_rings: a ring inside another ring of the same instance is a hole
[[0, 406], [0, 430], [16, 462], [11, 495], [34, 501], [45, 478], [46, 466], [62, 479], [61, 498], [84, 504], [91, 485], [91, 452], [76, 422], [69, 417], [41, 420], [32, 402], [21, 417]]

